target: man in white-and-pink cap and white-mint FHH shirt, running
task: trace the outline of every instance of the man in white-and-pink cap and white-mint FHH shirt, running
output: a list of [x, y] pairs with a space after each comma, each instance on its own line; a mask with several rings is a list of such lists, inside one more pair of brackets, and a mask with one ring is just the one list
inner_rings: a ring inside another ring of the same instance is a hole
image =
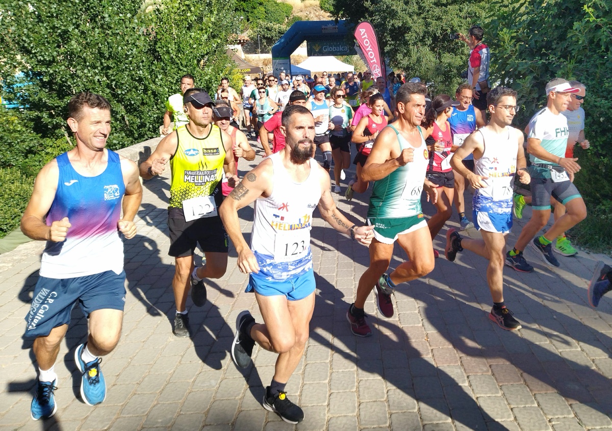
[[[547, 106], [529, 121], [527, 151], [531, 157], [531, 220], [524, 225], [517, 244], [506, 255], [506, 264], [520, 272], [531, 272], [533, 267], [523, 257], [527, 244], [549, 266], [558, 267], [552, 242], [562, 233], [586, 218], [584, 200], [573, 184], [574, 174], [580, 171], [578, 159], [565, 157], [569, 128], [561, 114], [567, 109], [572, 93], [580, 91], [569, 81], [554, 78], [546, 84]], [[542, 236], [534, 238], [550, 219], [550, 197], [565, 205], [567, 213], [559, 217]], [[532, 241], [533, 239], [533, 241]]]

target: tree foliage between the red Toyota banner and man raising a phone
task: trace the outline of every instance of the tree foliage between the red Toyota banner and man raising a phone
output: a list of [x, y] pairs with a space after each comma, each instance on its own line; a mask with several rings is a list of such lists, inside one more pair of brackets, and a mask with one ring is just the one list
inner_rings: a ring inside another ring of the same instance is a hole
[[[433, 81], [435, 91], [453, 94], [466, 69], [469, 50], [449, 35], [465, 33], [478, 23], [484, 1], [474, 0], [326, 0], [326, 10], [353, 24], [370, 21], [376, 29], [381, 54], [395, 69], [410, 77]], [[353, 35], [351, 34], [351, 39]]]

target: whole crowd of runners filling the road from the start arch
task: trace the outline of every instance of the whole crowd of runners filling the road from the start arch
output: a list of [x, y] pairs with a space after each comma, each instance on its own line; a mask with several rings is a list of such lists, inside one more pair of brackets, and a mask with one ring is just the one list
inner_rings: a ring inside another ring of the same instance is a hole
[[[40, 171], [21, 222], [30, 238], [47, 241], [24, 334], [34, 339], [39, 367], [33, 419], [50, 418], [56, 411], [54, 362], [76, 302], [89, 318], [88, 340], [75, 353], [81, 397], [89, 405], [105, 399], [101, 358], [119, 342], [125, 302], [121, 237], [136, 234], [139, 174], [151, 179], [166, 165], [171, 171], [168, 254], [176, 264], [173, 333], [191, 334], [187, 297], [198, 307], [205, 304], [205, 282], [225, 274], [231, 240], [262, 321], [248, 311], [239, 313], [229, 350], [241, 368], [252, 364], [256, 344], [278, 354], [263, 407], [286, 422], [304, 418], [285, 386], [304, 353], [315, 307], [310, 248], [315, 208], [330, 227], [369, 247], [370, 264], [359, 274], [346, 310], [348, 325], [359, 337], [372, 333], [364, 312], [372, 290], [379, 312], [389, 318], [398, 285], [433, 271], [442, 251], [433, 240], [452, 217], [453, 204], [459, 230], [446, 228], [444, 255], [452, 262], [469, 250], [488, 260], [489, 317], [502, 329], [521, 328], [504, 302], [504, 264], [534, 271], [523, 257], [527, 245], [553, 268], [562, 266], [556, 253], [577, 253], [564, 233], [586, 217], [573, 184], [580, 171], [573, 147], [589, 147], [580, 107], [586, 88], [578, 81], [548, 82], [546, 105], [525, 133], [512, 127], [517, 93], [503, 86], [463, 83], [453, 97], [430, 97], [418, 78], [405, 82], [401, 74], [373, 80], [370, 72], [323, 72], [311, 81], [282, 72], [254, 82], [247, 76], [239, 91], [229, 82], [223, 78], [211, 97], [184, 75], [181, 92], [166, 103], [164, 138], [140, 167], [105, 148], [108, 100], [91, 93], [70, 100], [68, 124], [76, 146]], [[258, 146], [266, 158], [239, 178], [239, 158], [255, 159]], [[356, 174], [342, 194], [351, 149]], [[321, 164], [314, 158], [319, 151]], [[515, 193], [519, 182], [529, 185], [531, 195]], [[367, 217], [357, 225], [335, 202], [352, 200], [370, 183]], [[471, 221], [463, 198], [470, 188]], [[422, 211], [422, 199], [435, 206], [430, 217]], [[252, 203], [248, 244], [238, 211]], [[513, 216], [521, 219], [526, 204], [531, 204], [531, 219], [506, 251]], [[554, 223], [539, 235], [551, 206]], [[482, 239], [460, 233], [474, 228]], [[408, 260], [390, 270], [396, 241]], [[204, 253], [200, 267], [193, 260], [198, 246]], [[612, 269], [599, 263], [589, 283], [589, 304], [599, 304], [611, 280]]]

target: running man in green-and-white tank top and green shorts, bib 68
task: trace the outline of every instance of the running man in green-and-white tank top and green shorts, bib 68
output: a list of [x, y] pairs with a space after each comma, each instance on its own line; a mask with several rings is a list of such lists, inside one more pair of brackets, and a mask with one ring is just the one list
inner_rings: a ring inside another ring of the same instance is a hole
[[[370, 267], [359, 279], [355, 302], [346, 313], [351, 331], [360, 337], [372, 333], [364, 305], [375, 285], [379, 311], [392, 317], [395, 286], [429, 274], [434, 266], [431, 236], [420, 203], [424, 186], [428, 199], [436, 203], [438, 198], [435, 185], [425, 179], [429, 154], [420, 128], [425, 94], [423, 84], [401, 86], [395, 96], [398, 121], [380, 133], [361, 172], [364, 181], [375, 181], [367, 216], [368, 225], [374, 227], [374, 239]], [[395, 241], [408, 254], [408, 261], [385, 274]]]

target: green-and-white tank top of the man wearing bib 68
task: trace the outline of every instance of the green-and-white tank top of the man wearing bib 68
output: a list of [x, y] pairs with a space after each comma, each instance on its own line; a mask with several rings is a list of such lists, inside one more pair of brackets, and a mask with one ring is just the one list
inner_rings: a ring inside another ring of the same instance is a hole
[[420, 127], [417, 127], [421, 144], [414, 147], [406, 141], [395, 127], [391, 124], [388, 127], [395, 130], [400, 151], [405, 148], [414, 149], [414, 160], [397, 168], [385, 178], [374, 182], [370, 206], [368, 207], [368, 218], [397, 219], [422, 214], [420, 197], [429, 160], [429, 152], [425, 145], [423, 133]]

